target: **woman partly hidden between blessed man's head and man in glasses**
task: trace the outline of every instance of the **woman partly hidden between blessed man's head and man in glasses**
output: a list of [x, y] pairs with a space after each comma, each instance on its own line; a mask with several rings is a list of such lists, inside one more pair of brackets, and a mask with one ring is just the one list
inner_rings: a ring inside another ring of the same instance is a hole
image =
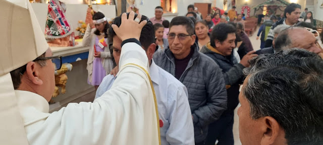
[[163, 38], [164, 36], [164, 26], [156, 23], [153, 25], [155, 30], [156, 44], [158, 45], [158, 51], [164, 50], [168, 47], [168, 39]]

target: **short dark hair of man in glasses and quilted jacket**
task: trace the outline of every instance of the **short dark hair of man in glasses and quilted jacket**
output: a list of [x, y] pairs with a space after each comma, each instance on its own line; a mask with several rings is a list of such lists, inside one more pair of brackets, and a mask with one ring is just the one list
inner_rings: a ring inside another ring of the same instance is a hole
[[184, 17], [184, 16], [178, 16], [172, 19], [170, 23], [170, 28], [172, 26], [177, 26], [177, 25], [183, 25], [186, 28], [186, 31], [188, 34], [193, 35], [194, 34], [194, 24], [193, 21], [190, 18]]

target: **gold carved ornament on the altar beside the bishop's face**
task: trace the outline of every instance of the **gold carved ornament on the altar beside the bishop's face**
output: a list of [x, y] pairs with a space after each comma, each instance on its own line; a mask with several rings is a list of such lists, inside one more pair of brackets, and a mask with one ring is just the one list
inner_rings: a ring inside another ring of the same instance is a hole
[[[52, 94], [52, 97], [55, 98], [58, 95], [60, 95], [60, 89], [61, 87], [61, 93], [66, 93], [66, 83], [67, 83], [67, 75], [65, 74], [67, 71], [71, 71], [73, 68], [72, 64], [70, 63], [64, 63], [62, 64], [61, 69], [55, 71], [55, 91]], [[49, 103], [55, 103], [54, 101], [50, 100]]]

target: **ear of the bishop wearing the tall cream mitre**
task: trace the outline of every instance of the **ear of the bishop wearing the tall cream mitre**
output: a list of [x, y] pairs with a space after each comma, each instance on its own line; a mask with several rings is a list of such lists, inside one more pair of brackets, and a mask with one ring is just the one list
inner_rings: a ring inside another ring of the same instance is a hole
[[30, 61], [27, 63], [26, 66], [26, 75], [30, 82], [35, 85], [42, 85], [42, 80], [39, 78], [39, 68], [36, 62]]

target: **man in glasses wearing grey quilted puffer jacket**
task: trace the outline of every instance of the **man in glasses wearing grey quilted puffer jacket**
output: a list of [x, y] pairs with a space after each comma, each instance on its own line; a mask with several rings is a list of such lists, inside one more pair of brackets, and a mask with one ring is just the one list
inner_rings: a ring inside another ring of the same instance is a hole
[[227, 92], [221, 68], [198, 52], [194, 24], [178, 16], [170, 23], [169, 47], [154, 54], [154, 62], [182, 82], [188, 91], [195, 144], [204, 144], [208, 125], [227, 109]]

